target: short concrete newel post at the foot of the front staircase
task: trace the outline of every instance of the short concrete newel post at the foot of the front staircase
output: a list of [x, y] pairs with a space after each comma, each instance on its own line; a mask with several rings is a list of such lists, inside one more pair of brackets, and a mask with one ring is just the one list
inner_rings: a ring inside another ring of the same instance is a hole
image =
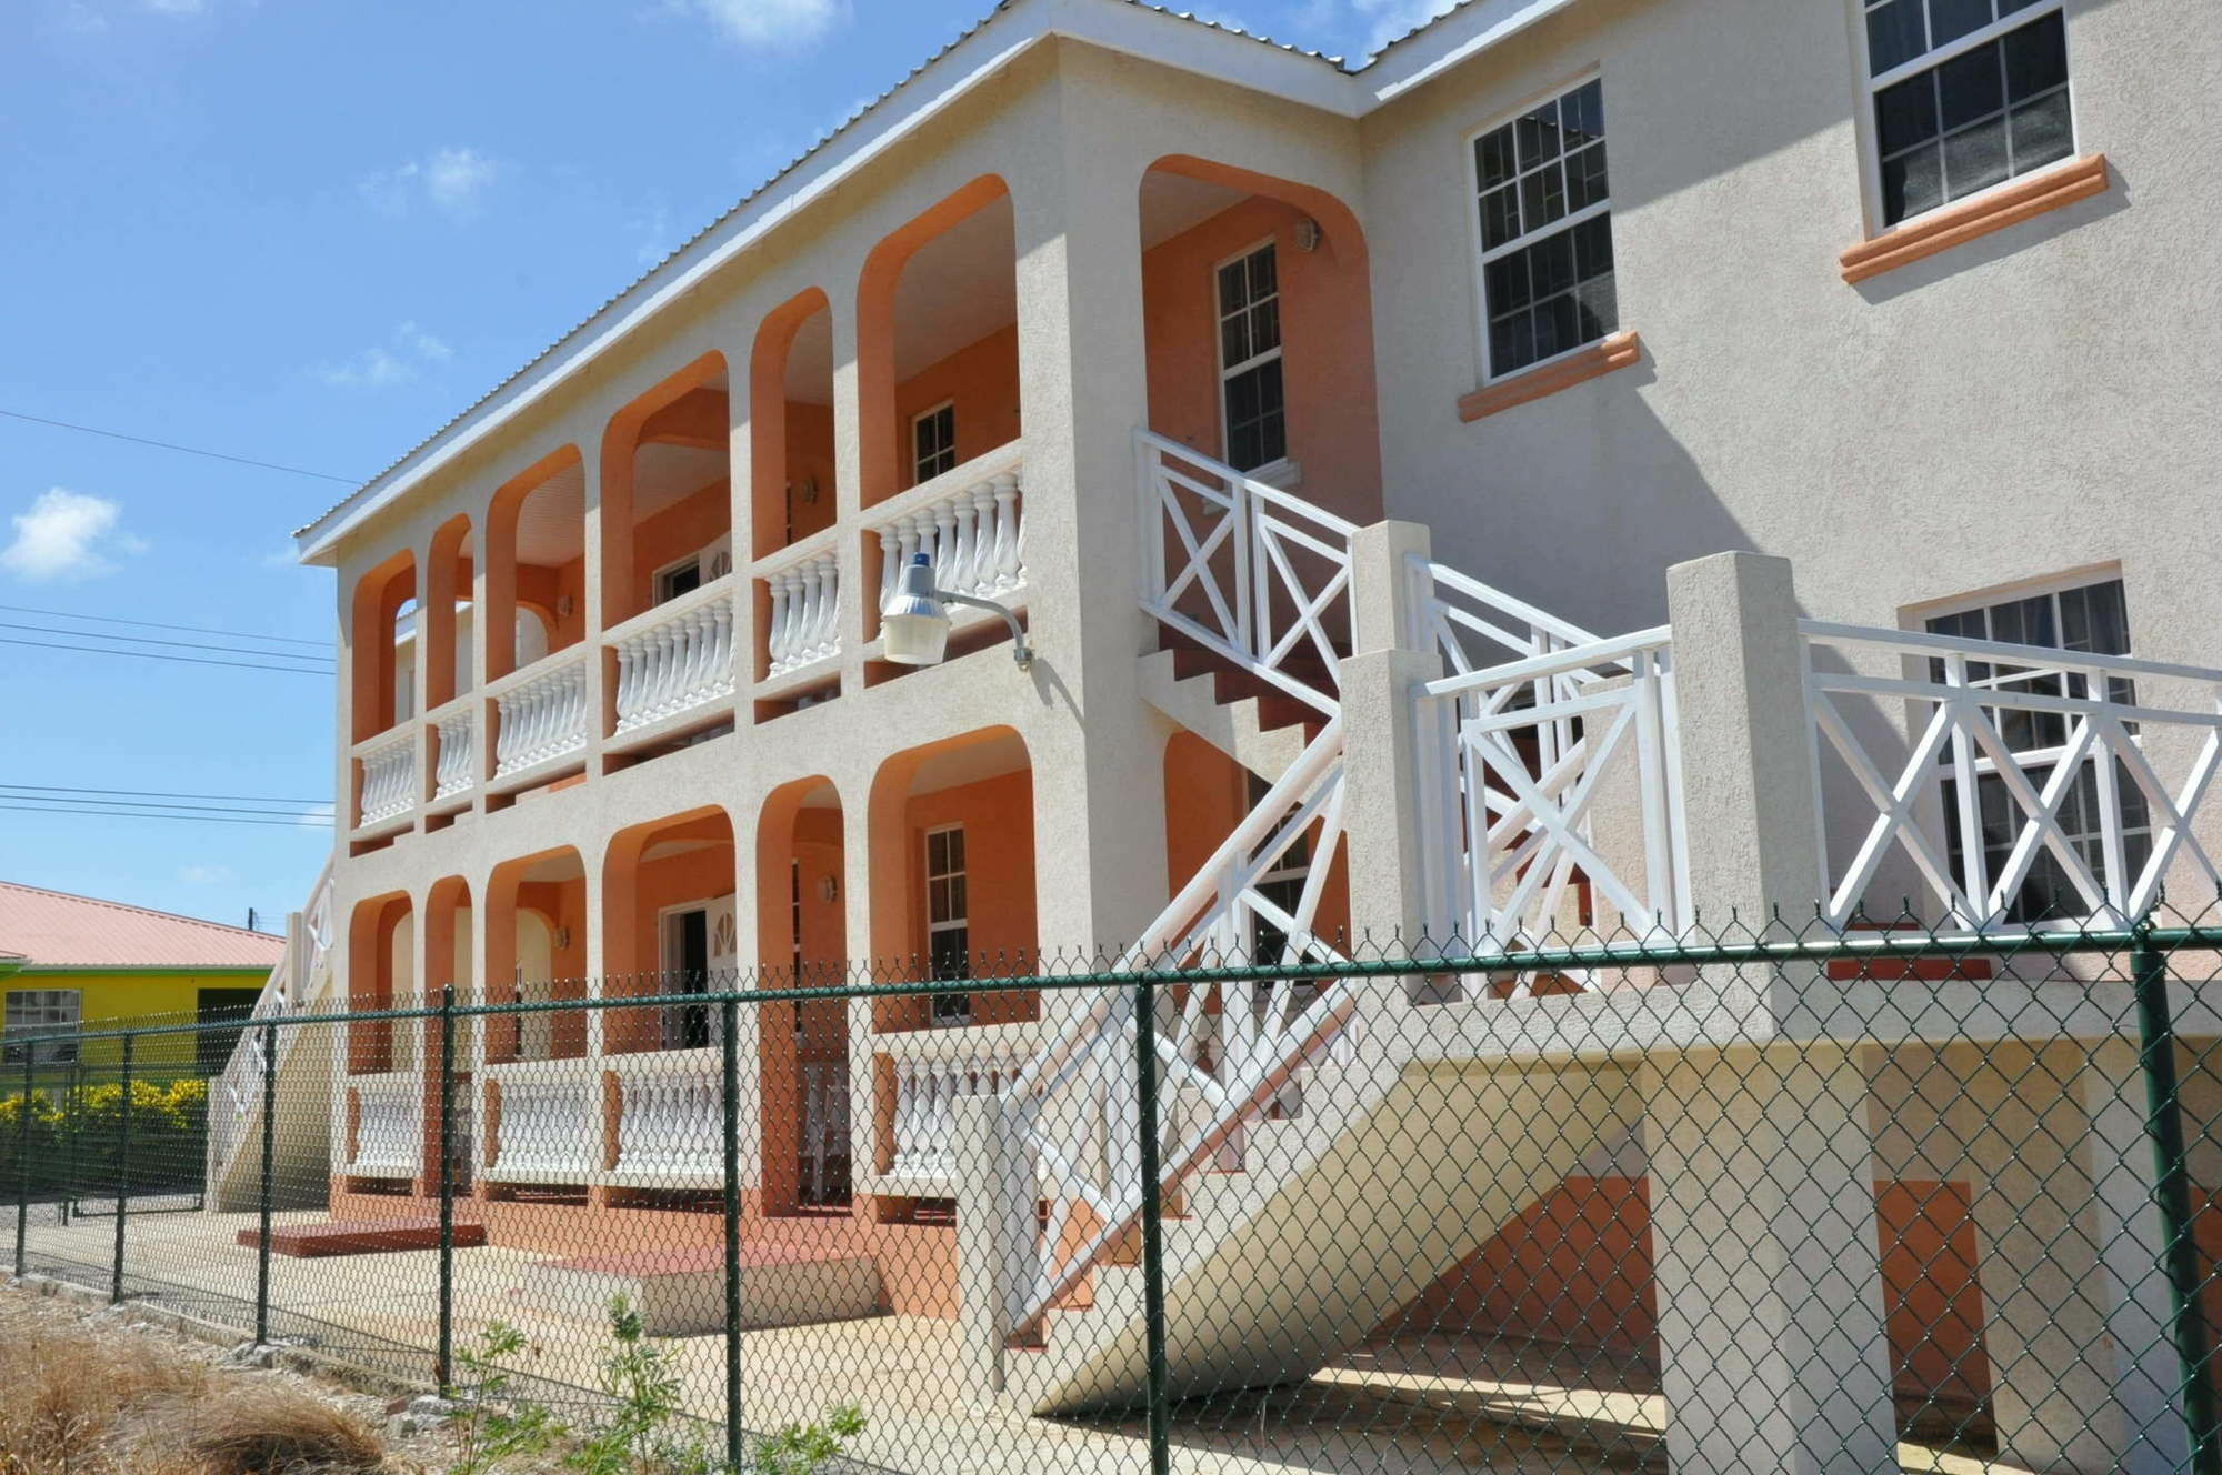
[[1002, 1391], [1002, 1357], [1033, 1251], [1027, 1157], [1002, 1102], [955, 1102], [958, 1364], [975, 1397]]

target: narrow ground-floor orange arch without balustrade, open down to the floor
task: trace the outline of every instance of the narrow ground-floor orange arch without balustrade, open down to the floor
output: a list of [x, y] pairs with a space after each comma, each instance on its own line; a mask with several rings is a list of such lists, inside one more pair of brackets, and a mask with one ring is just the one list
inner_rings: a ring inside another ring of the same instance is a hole
[[[840, 793], [824, 777], [782, 784], [755, 820], [758, 977], [771, 989], [847, 982]], [[767, 1215], [849, 1202], [849, 1002], [758, 1009], [762, 1206]]]

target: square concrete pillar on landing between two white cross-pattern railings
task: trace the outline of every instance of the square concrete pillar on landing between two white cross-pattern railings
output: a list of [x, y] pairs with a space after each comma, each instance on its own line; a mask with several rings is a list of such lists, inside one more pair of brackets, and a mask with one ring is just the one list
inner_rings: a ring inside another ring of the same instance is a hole
[[1791, 564], [1713, 553], [1666, 571], [1689, 897], [1702, 935], [1811, 922], [1820, 800]]

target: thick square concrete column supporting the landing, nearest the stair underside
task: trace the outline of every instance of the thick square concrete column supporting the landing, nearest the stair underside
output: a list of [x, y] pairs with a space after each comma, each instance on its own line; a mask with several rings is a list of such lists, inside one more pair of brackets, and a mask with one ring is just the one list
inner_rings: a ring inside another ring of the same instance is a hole
[[1855, 1053], [1695, 1051], [1642, 1082], [1669, 1468], [1895, 1471]]

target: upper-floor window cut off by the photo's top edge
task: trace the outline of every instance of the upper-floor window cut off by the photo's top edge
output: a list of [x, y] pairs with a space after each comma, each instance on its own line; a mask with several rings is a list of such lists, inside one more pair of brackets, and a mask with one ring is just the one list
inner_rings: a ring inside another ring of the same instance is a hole
[[1875, 96], [1884, 224], [2073, 153], [2060, 4], [1866, 4], [1866, 87]]

